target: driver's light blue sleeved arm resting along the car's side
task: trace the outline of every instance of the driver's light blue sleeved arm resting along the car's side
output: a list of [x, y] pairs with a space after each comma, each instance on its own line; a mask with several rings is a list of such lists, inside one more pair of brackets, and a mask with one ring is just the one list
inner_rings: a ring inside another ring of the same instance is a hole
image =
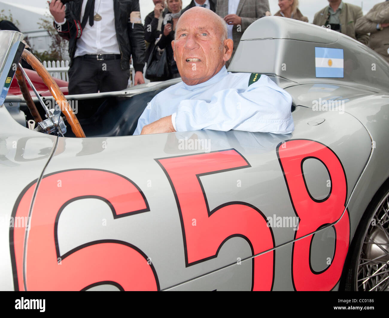
[[[186, 99], [175, 115], [179, 131], [213, 129], [288, 134], [294, 130], [291, 96], [267, 76], [244, 91], [225, 89], [207, 103]], [[174, 118], [174, 116], [173, 116]]]

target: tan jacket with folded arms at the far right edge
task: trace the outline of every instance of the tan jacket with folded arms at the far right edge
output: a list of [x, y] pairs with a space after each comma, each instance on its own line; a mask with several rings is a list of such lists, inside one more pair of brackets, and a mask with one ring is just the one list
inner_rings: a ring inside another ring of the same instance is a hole
[[389, 1], [376, 4], [366, 16], [359, 18], [355, 24], [357, 32], [370, 32], [369, 46], [389, 62], [389, 27], [377, 30], [378, 23], [389, 23]]

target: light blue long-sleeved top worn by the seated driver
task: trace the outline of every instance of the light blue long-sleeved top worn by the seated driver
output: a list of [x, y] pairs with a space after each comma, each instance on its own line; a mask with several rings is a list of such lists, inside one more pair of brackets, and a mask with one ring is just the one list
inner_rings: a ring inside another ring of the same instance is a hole
[[133, 135], [143, 126], [172, 115], [177, 132], [201, 129], [289, 134], [294, 130], [292, 97], [266, 75], [249, 85], [250, 73], [223, 68], [197, 85], [177, 83], [151, 100]]

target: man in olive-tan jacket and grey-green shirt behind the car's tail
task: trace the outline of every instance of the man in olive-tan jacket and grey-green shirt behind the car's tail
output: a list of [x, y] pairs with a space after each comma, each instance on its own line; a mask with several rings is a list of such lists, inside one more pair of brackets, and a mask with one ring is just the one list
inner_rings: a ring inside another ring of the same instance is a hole
[[350, 36], [357, 41], [368, 44], [369, 36], [355, 30], [356, 21], [363, 16], [361, 7], [345, 3], [342, 0], [328, 0], [329, 5], [316, 12], [313, 24], [331, 26], [331, 30]]

